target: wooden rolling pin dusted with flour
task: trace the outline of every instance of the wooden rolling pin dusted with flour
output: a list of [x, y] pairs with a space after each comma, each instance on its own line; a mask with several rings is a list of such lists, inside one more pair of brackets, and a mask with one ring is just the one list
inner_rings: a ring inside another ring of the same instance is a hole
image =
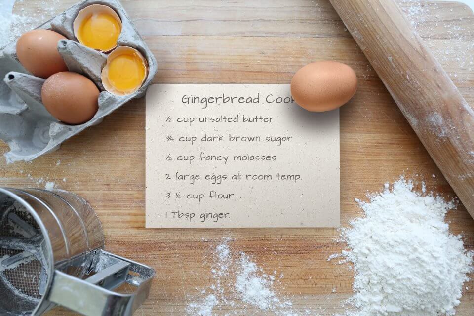
[[474, 112], [394, 0], [330, 0], [474, 218]]

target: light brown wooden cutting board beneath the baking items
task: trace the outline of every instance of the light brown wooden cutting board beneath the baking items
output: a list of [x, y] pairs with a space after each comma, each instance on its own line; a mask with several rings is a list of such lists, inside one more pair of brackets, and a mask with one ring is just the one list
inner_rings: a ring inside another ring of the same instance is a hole
[[[39, 24], [75, 1], [56, 0], [51, 7], [41, 2], [23, 0], [14, 11], [33, 15]], [[341, 109], [343, 225], [361, 215], [354, 197], [364, 199], [367, 192], [380, 191], [384, 182], [400, 175], [424, 179], [429, 191], [454, 196], [328, 1], [122, 2], [156, 54], [156, 83], [288, 83], [301, 66], [328, 59], [356, 70], [358, 91]], [[448, 2], [401, 5], [474, 105], [472, 11]], [[107, 249], [157, 271], [150, 298], [136, 315], [184, 315], [187, 303], [198, 297], [197, 288], [212, 284], [208, 259], [223, 237], [233, 238], [232, 249], [254, 256], [267, 272], [284, 274], [276, 290], [293, 300], [295, 310], [342, 312], [339, 302], [351, 295], [353, 274], [347, 266], [326, 260], [344, 248], [334, 242], [334, 229], [144, 229], [144, 102], [131, 102], [32, 163], [6, 166], [1, 159], [0, 185], [44, 188], [45, 181], [54, 181], [85, 197], [102, 220]], [[0, 152], [6, 151], [0, 144]], [[451, 232], [464, 234], [466, 247], [474, 250], [474, 221], [467, 211], [460, 206], [447, 220]], [[474, 314], [474, 282], [466, 286], [459, 316]], [[73, 314], [55, 309], [48, 315]]]

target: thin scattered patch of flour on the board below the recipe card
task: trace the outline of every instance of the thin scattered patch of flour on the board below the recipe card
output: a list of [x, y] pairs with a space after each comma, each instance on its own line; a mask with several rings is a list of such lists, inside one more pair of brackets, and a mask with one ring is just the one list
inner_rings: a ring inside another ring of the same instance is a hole
[[216, 247], [214, 284], [201, 290], [201, 300], [188, 304], [187, 316], [214, 316], [222, 308], [238, 309], [239, 315], [254, 315], [257, 310], [276, 316], [312, 315], [309, 311], [298, 314], [291, 301], [278, 297], [274, 285], [280, 283], [283, 275], [276, 276], [276, 271], [265, 274], [244, 252], [231, 252], [229, 241], [226, 239]]

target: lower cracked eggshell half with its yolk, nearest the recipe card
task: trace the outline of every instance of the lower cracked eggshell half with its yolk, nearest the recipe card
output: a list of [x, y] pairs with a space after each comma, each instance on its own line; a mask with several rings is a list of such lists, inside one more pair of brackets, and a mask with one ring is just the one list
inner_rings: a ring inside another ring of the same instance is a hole
[[118, 46], [107, 57], [102, 69], [104, 88], [115, 95], [128, 95], [140, 89], [148, 77], [148, 63], [135, 48]]

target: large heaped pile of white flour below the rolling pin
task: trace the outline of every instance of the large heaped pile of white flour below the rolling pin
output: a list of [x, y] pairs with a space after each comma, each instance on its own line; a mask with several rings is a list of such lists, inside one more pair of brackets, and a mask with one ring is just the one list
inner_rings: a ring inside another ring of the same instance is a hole
[[453, 202], [423, 197], [403, 179], [358, 202], [365, 217], [342, 232], [349, 249], [340, 256], [355, 269], [349, 302], [356, 311], [347, 315], [453, 315], [473, 263], [461, 236], [444, 222]]

